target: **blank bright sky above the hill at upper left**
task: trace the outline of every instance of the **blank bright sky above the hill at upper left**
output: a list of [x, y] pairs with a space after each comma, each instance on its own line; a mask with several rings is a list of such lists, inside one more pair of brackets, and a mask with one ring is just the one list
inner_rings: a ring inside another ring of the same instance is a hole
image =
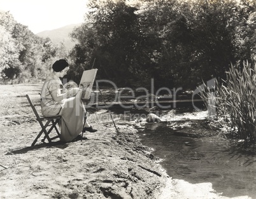
[[0, 0], [0, 10], [34, 34], [84, 22], [88, 0]]

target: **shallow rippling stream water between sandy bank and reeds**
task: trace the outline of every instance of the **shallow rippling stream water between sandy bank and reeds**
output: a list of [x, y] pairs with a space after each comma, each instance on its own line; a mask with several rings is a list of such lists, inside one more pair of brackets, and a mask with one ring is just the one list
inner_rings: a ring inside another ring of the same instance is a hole
[[256, 155], [242, 150], [208, 128], [205, 111], [169, 111], [160, 123], [138, 128], [142, 144], [174, 179], [211, 182], [223, 196], [256, 198]]

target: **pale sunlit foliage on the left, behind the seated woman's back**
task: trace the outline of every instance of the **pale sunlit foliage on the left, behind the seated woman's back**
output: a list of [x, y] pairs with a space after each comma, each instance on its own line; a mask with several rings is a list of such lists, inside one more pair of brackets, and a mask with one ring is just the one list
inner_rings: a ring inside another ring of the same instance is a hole
[[39, 38], [18, 24], [9, 12], [0, 11], [0, 81], [36, 82], [45, 79], [52, 62], [66, 57], [64, 46]]

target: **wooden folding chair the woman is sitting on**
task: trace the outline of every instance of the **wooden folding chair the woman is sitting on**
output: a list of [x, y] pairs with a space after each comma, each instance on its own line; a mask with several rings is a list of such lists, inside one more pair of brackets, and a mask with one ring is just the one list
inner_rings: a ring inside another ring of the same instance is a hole
[[[25, 95], [27, 97], [27, 100], [29, 101], [29, 104], [36, 116], [36, 120], [38, 121], [41, 131], [36, 136], [36, 139], [34, 139], [34, 142], [32, 142], [31, 146], [34, 146], [36, 142], [38, 141], [39, 137], [44, 133], [45, 137], [41, 140], [42, 142], [45, 142], [45, 139], [48, 140], [48, 142], [52, 142], [54, 139], [60, 138], [60, 132], [57, 128], [57, 123], [61, 119], [61, 116], [52, 116], [52, 117], [40, 117], [38, 114], [38, 111], [36, 111], [36, 108], [34, 107], [34, 104], [32, 103], [31, 99], [29, 98], [29, 95]], [[50, 137], [50, 132], [55, 129], [55, 132], [57, 135]]]

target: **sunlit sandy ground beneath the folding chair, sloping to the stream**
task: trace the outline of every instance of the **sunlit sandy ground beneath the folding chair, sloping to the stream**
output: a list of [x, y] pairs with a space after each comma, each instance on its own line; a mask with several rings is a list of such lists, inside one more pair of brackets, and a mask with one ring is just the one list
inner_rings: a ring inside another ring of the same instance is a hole
[[94, 119], [90, 123], [98, 132], [84, 134], [82, 141], [31, 147], [40, 128], [25, 94], [39, 108], [41, 85], [0, 88], [1, 199], [226, 198], [211, 183], [190, 184], [166, 175], [129, 125], [117, 124], [117, 133], [113, 124]]

